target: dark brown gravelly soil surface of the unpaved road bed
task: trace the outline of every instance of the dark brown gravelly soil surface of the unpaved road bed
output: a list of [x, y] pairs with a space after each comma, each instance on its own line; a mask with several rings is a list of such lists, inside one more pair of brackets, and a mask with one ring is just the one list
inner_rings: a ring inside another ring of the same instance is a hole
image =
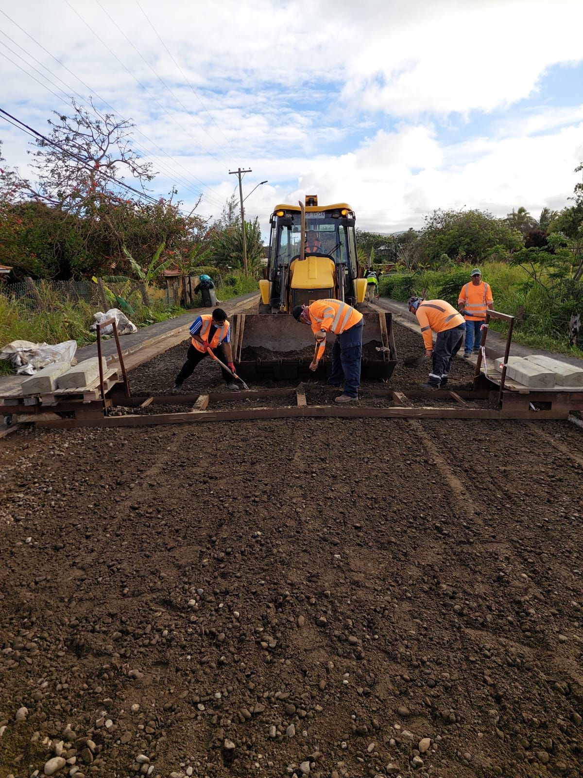
[[[185, 350], [134, 389], [166, 390]], [[581, 432], [2, 440], [0, 778], [581, 776]]]

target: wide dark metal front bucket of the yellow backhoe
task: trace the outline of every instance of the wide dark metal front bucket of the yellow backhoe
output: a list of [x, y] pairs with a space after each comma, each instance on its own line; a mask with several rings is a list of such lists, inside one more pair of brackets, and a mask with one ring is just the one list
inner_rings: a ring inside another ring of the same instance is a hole
[[[367, 312], [362, 332], [362, 378], [388, 379], [396, 365], [393, 315]], [[326, 336], [326, 352], [318, 370], [309, 364], [314, 337], [306, 324], [290, 314], [236, 314], [232, 321], [232, 347], [237, 373], [250, 380], [294, 380], [330, 375], [335, 336]], [[387, 349], [377, 351], [377, 348]]]

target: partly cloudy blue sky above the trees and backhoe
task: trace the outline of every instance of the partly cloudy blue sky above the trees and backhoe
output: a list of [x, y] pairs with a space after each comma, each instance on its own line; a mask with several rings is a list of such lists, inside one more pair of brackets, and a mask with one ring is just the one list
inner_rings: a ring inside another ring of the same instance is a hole
[[[386, 233], [437, 208], [536, 214], [567, 205], [583, 161], [579, 0], [0, 11], [0, 106], [46, 131], [74, 92], [109, 103], [159, 170], [153, 194], [175, 185], [188, 208], [202, 193], [204, 216], [220, 214], [237, 166], [253, 169], [245, 195], [268, 180], [246, 201], [264, 230], [276, 203], [306, 192], [350, 202], [359, 226]], [[0, 123], [0, 139], [26, 174], [29, 138]]]

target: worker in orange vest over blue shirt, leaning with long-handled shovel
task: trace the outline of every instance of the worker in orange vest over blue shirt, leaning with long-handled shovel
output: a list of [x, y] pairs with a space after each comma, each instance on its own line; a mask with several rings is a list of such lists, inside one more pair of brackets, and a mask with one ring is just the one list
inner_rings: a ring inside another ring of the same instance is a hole
[[[190, 336], [192, 340], [188, 348], [187, 361], [176, 376], [172, 387], [175, 394], [180, 392], [183, 382], [194, 373], [194, 368], [201, 362], [201, 359], [207, 356], [208, 349], [212, 349], [218, 359], [225, 362], [229, 366], [229, 370], [235, 372], [235, 365], [232, 361], [231, 325], [222, 308], [215, 308], [212, 314], [202, 314], [197, 317], [190, 324]], [[221, 368], [221, 372], [227, 389], [238, 390], [239, 387], [232, 375], [229, 375], [223, 368]]]

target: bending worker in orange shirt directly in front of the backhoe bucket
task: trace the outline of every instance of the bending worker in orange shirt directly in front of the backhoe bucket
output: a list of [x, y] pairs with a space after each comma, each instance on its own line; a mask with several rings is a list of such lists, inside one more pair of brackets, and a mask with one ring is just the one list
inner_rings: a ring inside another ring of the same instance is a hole
[[340, 387], [344, 381], [344, 391], [336, 398], [336, 402], [358, 400], [364, 325], [362, 314], [341, 300], [315, 300], [310, 305], [296, 305], [292, 314], [295, 321], [310, 325], [319, 346], [316, 359], [309, 366], [310, 370], [316, 370], [319, 360], [324, 356], [326, 333], [333, 332], [336, 335], [332, 346], [332, 372], [328, 384]]

